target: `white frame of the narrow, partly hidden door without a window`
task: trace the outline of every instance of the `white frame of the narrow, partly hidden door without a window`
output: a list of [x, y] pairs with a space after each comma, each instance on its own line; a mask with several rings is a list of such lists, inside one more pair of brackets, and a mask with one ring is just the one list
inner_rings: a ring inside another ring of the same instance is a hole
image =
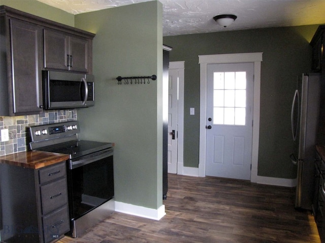
[[184, 61], [169, 62], [169, 69], [178, 69], [177, 175], [184, 170], [184, 65]]

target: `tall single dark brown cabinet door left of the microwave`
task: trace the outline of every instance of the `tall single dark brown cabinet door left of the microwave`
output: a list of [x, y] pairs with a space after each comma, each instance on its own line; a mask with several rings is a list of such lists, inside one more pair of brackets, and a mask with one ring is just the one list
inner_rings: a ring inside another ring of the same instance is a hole
[[[8, 82], [11, 115], [35, 114], [42, 109], [42, 28], [10, 19], [11, 79]], [[10, 75], [9, 75], [10, 77]]]

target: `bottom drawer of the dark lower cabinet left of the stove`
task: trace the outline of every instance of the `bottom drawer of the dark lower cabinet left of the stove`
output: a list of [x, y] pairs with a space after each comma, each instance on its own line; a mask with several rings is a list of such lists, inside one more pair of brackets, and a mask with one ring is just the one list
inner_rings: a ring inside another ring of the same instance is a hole
[[43, 217], [44, 242], [60, 238], [70, 230], [68, 206]]

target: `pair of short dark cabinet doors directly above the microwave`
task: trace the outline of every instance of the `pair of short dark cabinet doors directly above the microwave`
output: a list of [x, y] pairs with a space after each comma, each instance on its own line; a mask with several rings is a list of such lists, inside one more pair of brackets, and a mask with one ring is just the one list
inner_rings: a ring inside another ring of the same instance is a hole
[[88, 39], [44, 29], [45, 68], [88, 73], [88, 58]]

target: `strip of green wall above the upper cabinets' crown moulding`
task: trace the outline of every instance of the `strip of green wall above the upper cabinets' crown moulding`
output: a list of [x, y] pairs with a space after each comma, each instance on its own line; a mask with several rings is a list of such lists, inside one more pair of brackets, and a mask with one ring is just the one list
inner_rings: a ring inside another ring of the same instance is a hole
[[75, 16], [63, 10], [51, 7], [35, 0], [0, 0], [0, 5], [6, 5], [28, 14], [36, 15], [61, 24], [75, 25]]

